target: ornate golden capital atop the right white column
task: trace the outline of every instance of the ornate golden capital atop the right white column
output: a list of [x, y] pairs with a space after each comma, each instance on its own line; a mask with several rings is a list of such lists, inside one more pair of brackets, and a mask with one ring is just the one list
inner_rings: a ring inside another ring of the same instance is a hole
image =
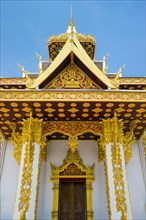
[[124, 149], [125, 163], [132, 157], [131, 144], [135, 141], [134, 129], [136, 122], [132, 121], [129, 125], [129, 131], [123, 133], [124, 122], [118, 119], [116, 111], [113, 118], [102, 119], [101, 122], [103, 134], [98, 141], [98, 160], [102, 161], [105, 158], [105, 145], [111, 143], [114, 146], [114, 155], [118, 160], [118, 146], [121, 144]]

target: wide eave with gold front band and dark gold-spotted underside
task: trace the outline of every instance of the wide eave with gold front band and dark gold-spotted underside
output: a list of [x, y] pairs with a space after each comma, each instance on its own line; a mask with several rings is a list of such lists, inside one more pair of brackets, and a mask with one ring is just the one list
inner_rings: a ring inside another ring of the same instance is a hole
[[137, 122], [135, 136], [139, 138], [146, 124], [145, 91], [119, 90], [1, 90], [0, 128], [10, 138], [9, 124], [33, 116], [44, 121], [97, 121], [117, 117], [123, 119], [124, 132], [132, 121]]

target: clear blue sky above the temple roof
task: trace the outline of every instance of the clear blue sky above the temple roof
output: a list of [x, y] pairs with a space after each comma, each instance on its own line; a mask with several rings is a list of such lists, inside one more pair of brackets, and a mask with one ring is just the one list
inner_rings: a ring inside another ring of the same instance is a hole
[[48, 60], [47, 40], [66, 32], [70, 6], [77, 32], [96, 38], [95, 59], [110, 53], [108, 72], [126, 65], [123, 76], [146, 75], [145, 0], [1, 0], [1, 77], [21, 77], [17, 64], [37, 72], [35, 53]]

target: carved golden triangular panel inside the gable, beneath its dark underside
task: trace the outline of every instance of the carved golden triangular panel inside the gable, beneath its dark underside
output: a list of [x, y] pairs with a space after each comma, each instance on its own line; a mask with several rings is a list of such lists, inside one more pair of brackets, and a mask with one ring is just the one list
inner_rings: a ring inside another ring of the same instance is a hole
[[52, 80], [46, 87], [55, 89], [94, 89], [98, 88], [84, 72], [82, 72], [75, 64], [71, 63], [59, 76]]

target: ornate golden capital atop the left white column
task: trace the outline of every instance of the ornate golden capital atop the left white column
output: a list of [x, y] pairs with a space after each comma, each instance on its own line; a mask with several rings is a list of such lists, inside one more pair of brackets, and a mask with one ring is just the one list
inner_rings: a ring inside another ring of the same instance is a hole
[[39, 144], [41, 148], [41, 161], [46, 160], [47, 154], [47, 138], [43, 136], [43, 120], [33, 118], [32, 112], [30, 117], [23, 119], [22, 133], [16, 132], [16, 123], [11, 123], [10, 128], [12, 129], [11, 142], [16, 146], [14, 148], [14, 158], [18, 164], [20, 164], [22, 146], [27, 143], [27, 161], [32, 158], [31, 151], [34, 147], [34, 143]]

